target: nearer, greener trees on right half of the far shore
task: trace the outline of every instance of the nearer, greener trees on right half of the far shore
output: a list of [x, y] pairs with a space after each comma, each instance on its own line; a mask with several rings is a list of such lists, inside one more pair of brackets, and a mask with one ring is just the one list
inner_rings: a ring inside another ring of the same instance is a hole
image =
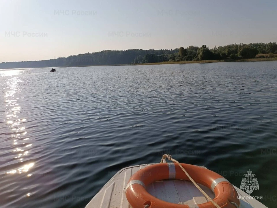
[[[175, 49], [176, 51], [176, 49]], [[147, 53], [144, 56], [138, 55], [134, 58], [133, 64], [157, 63], [157, 62], [179, 62], [179, 61], [200, 61], [200, 60], [224, 60], [224, 59], [249, 59], [255, 58], [257, 54], [269, 54], [273, 57], [277, 53], [276, 42], [269, 43], [250, 43], [250, 44], [230, 44], [213, 49], [206, 45], [201, 47], [189, 46], [180, 47], [176, 53]], [[263, 55], [260, 58], [265, 58]]]

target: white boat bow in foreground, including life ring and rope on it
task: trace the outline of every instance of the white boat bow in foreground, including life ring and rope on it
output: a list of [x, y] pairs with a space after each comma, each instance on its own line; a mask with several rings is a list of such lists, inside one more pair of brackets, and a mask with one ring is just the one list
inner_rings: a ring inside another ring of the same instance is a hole
[[164, 156], [160, 164], [121, 169], [85, 208], [267, 208], [220, 174]]

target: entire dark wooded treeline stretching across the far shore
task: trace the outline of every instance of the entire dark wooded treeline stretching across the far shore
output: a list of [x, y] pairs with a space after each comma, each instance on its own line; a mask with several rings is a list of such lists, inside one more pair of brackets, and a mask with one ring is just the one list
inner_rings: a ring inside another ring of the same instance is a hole
[[269, 54], [270, 57], [273, 53], [277, 53], [276, 42], [229, 44], [220, 47], [215, 46], [213, 49], [209, 49], [206, 45], [202, 45], [201, 47], [189, 46], [187, 48], [180, 47], [176, 49], [159, 50], [105, 50], [42, 61], [2, 62], [0, 63], [0, 68], [91, 66], [222, 59], [235, 60], [254, 58], [257, 54]]

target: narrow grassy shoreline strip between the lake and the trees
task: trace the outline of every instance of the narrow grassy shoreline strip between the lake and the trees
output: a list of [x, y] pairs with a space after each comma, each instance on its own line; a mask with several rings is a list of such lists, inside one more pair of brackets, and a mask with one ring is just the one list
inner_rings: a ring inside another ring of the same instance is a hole
[[[263, 62], [263, 61], [277, 61], [277, 57], [272, 58], [251, 58], [239, 60], [201, 60], [201, 61], [180, 61], [180, 62], [156, 62], [144, 64], [112, 64], [112, 65], [85, 65], [85, 66], [51, 66], [51, 67], [35, 67], [35, 68], [71, 68], [71, 67], [88, 67], [88, 66], [141, 66], [141, 65], [160, 65], [160, 64], [205, 64], [205, 63], [218, 63], [218, 62]], [[0, 70], [7, 69], [32, 69], [27, 68], [1, 68]]]

